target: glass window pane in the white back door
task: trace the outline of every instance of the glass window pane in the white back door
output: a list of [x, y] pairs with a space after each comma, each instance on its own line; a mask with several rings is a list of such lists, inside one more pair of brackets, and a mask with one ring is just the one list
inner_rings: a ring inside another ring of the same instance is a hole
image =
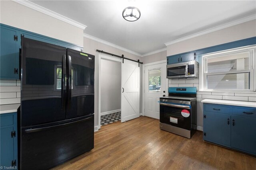
[[161, 68], [148, 70], [148, 92], [161, 93]]

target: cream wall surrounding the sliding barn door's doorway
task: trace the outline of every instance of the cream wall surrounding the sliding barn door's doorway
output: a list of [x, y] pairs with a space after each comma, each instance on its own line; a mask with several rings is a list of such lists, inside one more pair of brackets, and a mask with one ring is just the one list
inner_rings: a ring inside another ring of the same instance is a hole
[[[92, 39], [88, 39], [84, 37], [84, 52], [95, 55], [95, 76], [94, 76], [94, 126], [98, 126], [98, 70], [99, 70], [99, 52], [96, 49], [106, 51], [108, 53], [112, 53], [115, 55], [127, 57], [129, 59], [141, 60], [142, 57], [136, 56], [134, 54], [128, 53], [126, 51], [122, 51], [120, 49], [116, 49], [114, 47], [110, 47], [98, 41], [94, 41]], [[140, 75], [142, 75], [142, 66], [140, 66]], [[140, 88], [142, 89], [142, 76], [140, 80]], [[142, 106], [142, 90], [140, 90], [140, 106]], [[142, 113], [142, 107], [140, 107], [140, 113]], [[96, 129], [95, 129], [96, 130]]]

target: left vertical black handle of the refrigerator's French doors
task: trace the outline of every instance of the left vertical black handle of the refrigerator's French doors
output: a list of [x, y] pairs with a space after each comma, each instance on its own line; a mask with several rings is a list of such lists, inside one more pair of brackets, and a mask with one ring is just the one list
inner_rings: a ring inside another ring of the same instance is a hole
[[67, 69], [66, 69], [66, 55], [62, 55], [62, 79], [61, 79], [61, 97], [62, 103], [61, 108], [62, 111], [66, 111], [66, 89], [67, 89]]

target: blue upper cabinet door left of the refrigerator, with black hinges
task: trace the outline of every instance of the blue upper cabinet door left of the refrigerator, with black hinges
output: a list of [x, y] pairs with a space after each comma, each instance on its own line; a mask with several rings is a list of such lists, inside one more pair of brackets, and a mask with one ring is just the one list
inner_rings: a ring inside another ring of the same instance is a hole
[[0, 79], [19, 79], [18, 31], [0, 27]]

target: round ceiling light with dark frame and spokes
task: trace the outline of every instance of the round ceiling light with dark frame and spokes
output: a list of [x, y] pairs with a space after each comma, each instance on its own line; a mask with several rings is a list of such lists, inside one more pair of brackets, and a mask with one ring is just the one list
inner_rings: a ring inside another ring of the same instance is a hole
[[140, 18], [140, 10], [134, 6], [129, 6], [123, 10], [123, 18], [127, 21], [137, 21]]

